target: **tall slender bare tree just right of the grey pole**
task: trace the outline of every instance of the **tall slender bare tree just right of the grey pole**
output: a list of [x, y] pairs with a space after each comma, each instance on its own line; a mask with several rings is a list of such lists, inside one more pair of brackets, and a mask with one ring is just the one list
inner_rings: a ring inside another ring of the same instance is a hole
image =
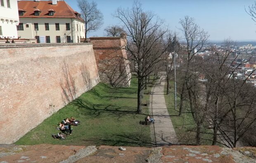
[[203, 46], [206, 43], [209, 35], [203, 29], [199, 27], [195, 23], [194, 18], [190, 18], [189, 16], [185, 16], [184, 19], [180, 20], [181, 32], [185, 39], [185, 51], [187, 53], [187, 60], [185, 61], [184, 73], [185, 77], [182, 84], [182, 90], [180, 92], [180, 110], [179, 115], [181, 115], [183, 110], [183, 102], [184, 102], [184, 94], [186, 91], [187, 83], [188, 83], [188, 73], [190, 71], [190, 62], [192, 61], [194, 55], [199, 52], [204, 51]]

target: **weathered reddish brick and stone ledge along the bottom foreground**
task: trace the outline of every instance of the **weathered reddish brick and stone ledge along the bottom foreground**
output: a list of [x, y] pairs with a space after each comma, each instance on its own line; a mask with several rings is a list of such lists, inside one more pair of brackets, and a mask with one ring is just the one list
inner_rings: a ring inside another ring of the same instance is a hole
[[256, 148], [0, 145], [0, 163], [256, 163]]

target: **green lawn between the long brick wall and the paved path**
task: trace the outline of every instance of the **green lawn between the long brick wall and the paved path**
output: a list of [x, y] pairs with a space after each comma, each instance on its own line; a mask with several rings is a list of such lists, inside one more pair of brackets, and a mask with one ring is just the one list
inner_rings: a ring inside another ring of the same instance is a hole
[[[149, 95], [145, 94], [143, 101], [148, 99]], [[150, 127], [139, 125], [140, 120], [144, 120], [148, 114], [148, 108], [142, 107], [142, 114], [137, 114], [136, 110], [135, 78], [127, 88], [114, 88], [99, 83], [45, 119], [15, 144], [150, 146]], [[59, 132], [55, 129], [57, 124], [71, 116], [81, 122], [80, 125], [73, 126], [72, 135], [68, 135], [66, 140], [57, 141], [52, 138], [52, 133]]]

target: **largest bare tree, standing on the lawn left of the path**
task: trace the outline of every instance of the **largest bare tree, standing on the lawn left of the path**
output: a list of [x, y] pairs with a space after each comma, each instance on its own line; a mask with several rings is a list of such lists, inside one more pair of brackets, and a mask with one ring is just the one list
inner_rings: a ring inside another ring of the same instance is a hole
[[164, 21], [150, 11], [143, 11], [138, 2], [134, 2], [132, 9], [116, 10], [114, 17], [118, 18], [127, 32], [129, 59], [133, 63], [132, 73], [138, 79], [137, 112], [141, 112], [142, 92], [154, 67], [162, 60], [166, 48], [162, 46], [161, 38], [166, 30], [161, 30]]

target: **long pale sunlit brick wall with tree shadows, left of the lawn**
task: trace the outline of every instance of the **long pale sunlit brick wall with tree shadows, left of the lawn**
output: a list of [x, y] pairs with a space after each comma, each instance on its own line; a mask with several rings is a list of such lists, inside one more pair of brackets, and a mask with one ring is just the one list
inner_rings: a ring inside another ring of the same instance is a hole
[[[0, 144], [17, 141], [65, 106], [64, 65], [74, 78], [76, 96], [99, 82], [92, 44], [0, 46]], [[82, 72], [90, 84], [85, 85]]]

